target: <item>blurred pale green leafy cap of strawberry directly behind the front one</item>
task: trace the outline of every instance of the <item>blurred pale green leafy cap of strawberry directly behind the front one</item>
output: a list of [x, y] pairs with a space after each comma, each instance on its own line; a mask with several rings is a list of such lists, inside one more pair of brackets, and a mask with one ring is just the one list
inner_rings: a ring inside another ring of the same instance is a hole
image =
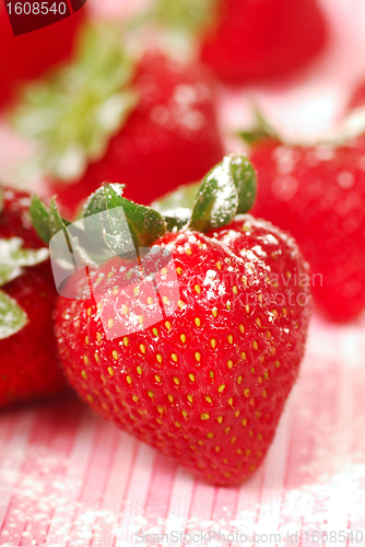
[[119, 26], [87, 26], [75, 61], [25, 89], [15, 127], [39, 144], [37, 167], [69, 182], [101, 159], [138, 102]]

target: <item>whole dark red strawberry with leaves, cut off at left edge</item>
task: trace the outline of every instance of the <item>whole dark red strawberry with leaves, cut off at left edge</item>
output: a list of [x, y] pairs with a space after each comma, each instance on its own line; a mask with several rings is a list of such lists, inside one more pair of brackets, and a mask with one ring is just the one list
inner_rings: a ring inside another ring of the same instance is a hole
[[1, 190], [0, 407], [66, 387], [51, 314], [56, 302], [48, 251], [31, 223], [30, 196]]

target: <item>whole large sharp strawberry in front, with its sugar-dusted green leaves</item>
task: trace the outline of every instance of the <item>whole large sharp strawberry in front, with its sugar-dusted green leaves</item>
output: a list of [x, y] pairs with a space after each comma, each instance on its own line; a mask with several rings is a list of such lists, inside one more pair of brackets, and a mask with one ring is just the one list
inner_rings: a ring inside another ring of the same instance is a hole
[[[310, 315], [294, 240], [245, 214], [255, 191], [255, 172], [238, 155], [204, 177], [192, 211], [164, 218], [125, 199], [120, 185], [104, 185], [86, 203], [80, 234], [91, 231], [94, 256], [104, 234], [109, 257], [69, 278], [55, 315], [60, 358], [81, 397], [216, 485], [260, 465]], [[55, 232], [47, 212], [34, 218], [44, 234]], [[72, 242], [71, 226], [59, 226]]]

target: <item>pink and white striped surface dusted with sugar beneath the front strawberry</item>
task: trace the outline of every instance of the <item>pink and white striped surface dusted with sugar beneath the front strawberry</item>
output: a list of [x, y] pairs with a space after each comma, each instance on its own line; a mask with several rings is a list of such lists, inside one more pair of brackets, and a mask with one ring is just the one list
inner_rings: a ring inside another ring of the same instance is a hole
[[0, 546], [365, 545], [364, 400], [365, 323], [315, 317], [274, 443], [240, 487], [196, 480], [73, 395], [2, 411]]

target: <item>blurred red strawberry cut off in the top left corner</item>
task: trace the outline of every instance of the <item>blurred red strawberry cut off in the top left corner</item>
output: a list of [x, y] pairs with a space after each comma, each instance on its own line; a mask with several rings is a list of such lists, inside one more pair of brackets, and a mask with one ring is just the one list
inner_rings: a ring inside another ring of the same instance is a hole
[[12, 100], [22, 84], [71, 57], [84, 19], [82, 9], [49, 27], [14, 36], [5, 2], [0, 2], [0, 105]]

